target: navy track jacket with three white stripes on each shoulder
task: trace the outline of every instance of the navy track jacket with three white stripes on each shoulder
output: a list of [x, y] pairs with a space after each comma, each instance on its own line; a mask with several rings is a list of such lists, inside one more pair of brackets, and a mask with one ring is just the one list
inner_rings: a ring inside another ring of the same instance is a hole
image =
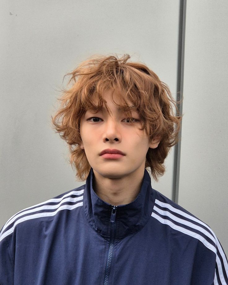
[[0, 235], [1, 285], [228, 284], [213, 231], [151, 188], [113, 207], [86, 184], [15, 214]]

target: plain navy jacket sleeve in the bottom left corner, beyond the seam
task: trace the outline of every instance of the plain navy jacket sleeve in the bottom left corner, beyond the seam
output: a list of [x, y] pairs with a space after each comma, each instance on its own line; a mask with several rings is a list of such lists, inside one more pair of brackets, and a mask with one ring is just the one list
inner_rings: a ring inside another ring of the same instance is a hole
[[14, 283], [14, 261], [7, 238], [0, 235], [0, 285]]

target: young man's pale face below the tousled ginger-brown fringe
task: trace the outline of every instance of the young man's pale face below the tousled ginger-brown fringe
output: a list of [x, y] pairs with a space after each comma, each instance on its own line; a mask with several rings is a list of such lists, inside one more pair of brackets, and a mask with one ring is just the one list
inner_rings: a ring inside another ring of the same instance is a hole
[[[136, 120], [129, 122], [127, 116], [112, 101], [112, 90], [103, 94], [107, 106], [111, 110], [109, 115], [104, 108], [96, 114], [86, 111], [80, 121], [81, 149], [94, 174], [115, 179], [144, 173], [146, 154], [149, 149], [156, 148], [158, 141], [149, 143], [145, 130], [141, 131], [141, 122], [138, 112], [132, 111]], [[113, 95], [115, 100], [115, 93]], [[116, 100], [115, 100], [116, 101]], [[105, 149], [117, 149], [125, 155], [117, 159], [106, 158], [100, 155]]]

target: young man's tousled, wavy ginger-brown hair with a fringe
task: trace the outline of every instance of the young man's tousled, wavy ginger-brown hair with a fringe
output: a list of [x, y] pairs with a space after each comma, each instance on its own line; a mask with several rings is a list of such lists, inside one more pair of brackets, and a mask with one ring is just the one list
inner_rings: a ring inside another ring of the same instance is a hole
[[86, 180], [91, 169], [85, 151], [80, 148], [80, 120], [87, 110], [98, 112], [103, 105], [109, 113], [103, 99], [107, 89], [117, 92], [120, 104], [114, 103], [128, 116], [133, 110], [129, 101], [133, 103], [142, 121], [140, 130], [145, 130], [150, 141], [160, 138], [157, 148], [148, 149], [145, 162], [145, 168], [150, 168], [156, 181], [165, 172], [164, 160], [170, 147], [178, 142], [181, 116], [174, 115], [175, 109], [178, 114], [178, 108], [169, 87], [145, 64], [129, 59], [126, 54], [120, 58], [93, 56], [65, 75], [70, 76], [68, 88], [58, 99], [61, 105], [51, 120], [69, 146], [70, 163], [80, 182]]

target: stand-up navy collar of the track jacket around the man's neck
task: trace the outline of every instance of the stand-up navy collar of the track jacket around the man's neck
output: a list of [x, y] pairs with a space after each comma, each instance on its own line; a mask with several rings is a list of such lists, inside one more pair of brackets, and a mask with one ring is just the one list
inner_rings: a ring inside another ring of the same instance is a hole
[[[104, 237], [110, 237], [112, 205], [101, 200], [93, 190], [93, 169], [86, 179], [83, 195], [85, 218], [90, 226]], [[141, 190], [130, 204], [116, 208], [116, 238], [131, 235], [141, 230], [149, 220], [155, 201], [155, 193], [151, 188], [151, 178], [144, 171]]]

